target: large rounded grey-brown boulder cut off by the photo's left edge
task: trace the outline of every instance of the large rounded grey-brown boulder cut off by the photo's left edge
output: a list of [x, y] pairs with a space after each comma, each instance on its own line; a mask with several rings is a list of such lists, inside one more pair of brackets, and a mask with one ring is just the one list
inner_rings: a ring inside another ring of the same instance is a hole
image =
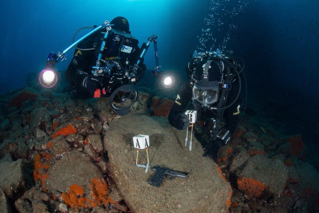
[[6, 171], [0, 173], [0, 188], [8, 197], [16, 199], [27, 190], [31, 177], [22, 159], [0, 163], [0, 171]]

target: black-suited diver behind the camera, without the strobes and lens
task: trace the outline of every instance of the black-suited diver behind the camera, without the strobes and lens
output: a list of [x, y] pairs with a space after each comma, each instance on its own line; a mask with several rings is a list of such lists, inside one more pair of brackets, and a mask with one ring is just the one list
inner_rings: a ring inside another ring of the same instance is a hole
[[[140, 57], [138, 40], [131, 35], [128, 20], [118, 16], [110, 24], [114, 26], [107, 39], [101, 29], [76, 46], [70, 65], [65, 71], [66, 79], [73, 87], [72, 97], [109, 97], [118, 87], [135, 84], [144, 75], [146, 66]], [[79, 30], [95, 27], [97, 26], [82, 27]], [[74, 37], [75, 35], [73, 42]], [[105, 46], [102, 42], [105, 42]], [[99, 54], [102, 54], [100, 60]], [[140, 60], [140, 63], [135, 66], [136, 75], [123, 78], [125, 71], [129, 72], [137, 60]], [[94, 71], [92, 67], [95, 68]], [[118, 93], [119, 96], [125, 94], [127, 93]], [[123, 97], [119, 97], [121, 98]]]

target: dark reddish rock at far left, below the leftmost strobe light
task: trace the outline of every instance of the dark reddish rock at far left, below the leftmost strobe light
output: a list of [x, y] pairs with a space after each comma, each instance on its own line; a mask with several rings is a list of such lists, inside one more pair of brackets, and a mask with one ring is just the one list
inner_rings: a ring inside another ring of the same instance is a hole
[[8, 103], [8, 108], [13, 106], [21, 107], [24, 101], [26, 100], [35, 101], [35, 99], [39, 96], [40, 94], [35, 89], [30, 87], [25, 87], [21, 91], [11, 96]]

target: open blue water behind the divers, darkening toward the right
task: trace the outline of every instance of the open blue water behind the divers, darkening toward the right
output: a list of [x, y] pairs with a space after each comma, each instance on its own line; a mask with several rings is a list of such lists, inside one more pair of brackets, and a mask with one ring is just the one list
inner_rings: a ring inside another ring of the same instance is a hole
[[[278, 119], [291, 133], [301, 132], [307, 137], [311, 131], [309, 140], [315, 140], [319, 128], [319, 2], [219, 1], [226, 2], [234, 7], [247, 3], [245, 12], [231, 20], [238, 27], [226, 49], [245, 59], [248, 100], [270, 100], [266, 108], [281, 110]], [[174, 72], [177, 80], [186, 81], [184, 67], [189, 53], [199, 45], [197, 36], [202, 28], [209, 27], [204, 18], [210, 13], [210, 5], [208, 0], [2, 1], [0, 93], [25, 86], [26, 74], [39, 72], [49, 52], [68, 47], [78, 28], [99, 25], [116, 16], [129, 20], [132, 35], [140, 45], [156, 34], [160, 65]], [[225, 33], [220, 31], [220, 38]], [[72, 54], [73, 50], [67, 61], [57, 64], [61, 72]], [[152, 47], [145, 64], [148, 69], [155, 65]]]

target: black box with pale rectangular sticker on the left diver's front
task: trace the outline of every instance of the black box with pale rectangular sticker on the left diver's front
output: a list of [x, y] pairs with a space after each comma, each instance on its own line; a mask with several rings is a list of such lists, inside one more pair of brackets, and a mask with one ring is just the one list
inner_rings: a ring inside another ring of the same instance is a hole
[[119, 56], [121, 54], [121, 57], [132, 58], [138, 40], [129, 33], [115, 29], [111, 29], [109, 33], [104, 52], [110, 56]]

